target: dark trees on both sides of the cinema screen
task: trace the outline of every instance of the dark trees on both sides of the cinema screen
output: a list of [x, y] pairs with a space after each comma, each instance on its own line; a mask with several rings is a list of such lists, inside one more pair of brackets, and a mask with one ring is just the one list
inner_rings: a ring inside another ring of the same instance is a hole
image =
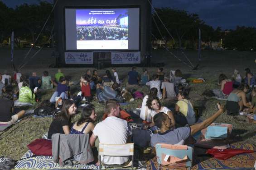
[[[40, 1], [39, 4], [22, 4], [13, 9], [0, 1], [0, 46], [8, 44], [12, 31], [16, 46], [22, 47], [21, 40], [33, 43], [52, 8], [53, 4]], [[49, 43], [53, 24], [52, 14], [37, 44]], [[222, 40], [222, 47], [230, 50], [256, 51], [256, 28], [237, 26], [234, 30], [222, 30], [220, 27], [214, 29], [201, 20], [198, 14], [170, 8], [157, 8], [156, 13], [152, 14], [152, 41], [162, 40], [169, 48], [197, 49], [199, 28], [203, 46], [209, 49], [213, 42]]]

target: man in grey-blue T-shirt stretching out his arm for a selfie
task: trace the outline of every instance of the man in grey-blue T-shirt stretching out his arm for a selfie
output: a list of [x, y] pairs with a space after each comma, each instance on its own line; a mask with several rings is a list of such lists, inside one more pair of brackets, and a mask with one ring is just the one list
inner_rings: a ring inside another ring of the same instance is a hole
[[199, 130], [207, 128], [213, 123], [219, 115], [224, 112], [224, 106], [217, 103], [218, 111], [205, 119], [203, 122], [198, 124], [193, 124], [191, 126], [185, 126], [182, 128], [172, 129], [173, 125], [171, 119], [168, 115], [160, 112], [154, 116], [154, 123], [160, 129], [159, 133], [155, 133], [151, 137], [151, 146], [155, 147], [157, 143], [167, 143], [167, 144], [179, 144], [183, 145], [184, 141], [190, 136], [197, 133]]

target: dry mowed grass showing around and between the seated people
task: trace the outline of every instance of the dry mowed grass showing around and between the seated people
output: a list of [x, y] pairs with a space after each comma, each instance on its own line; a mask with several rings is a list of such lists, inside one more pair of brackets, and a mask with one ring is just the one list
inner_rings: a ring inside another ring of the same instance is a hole
[[[0, 53], [2, 53], [2, 51], [0, 51]], [[3, 53], [7, 54], [6, 51]], [[17, 53], [18, 52], [15, 54]], [[25, 52], [19, 51], [19, 53], [24, 54]], [[182, 60], [186, 61], [184, 55], [180, 51], [173, 51], [173, 53]], [[198, 64], [196, 51], [184, 51], [184, 53], [194, 65]], [[205, 119], [217, 111], [216, 103], [218, 100], [212, 98], [207, 99], [200, 94], [202, 94], [206, 89], [219, 88], [217, 86], [217, 78], [220, 73], [231, 76], [234, 69], [239, 69], [241, 74], [243, 74], [243, 69], [246, 67], [251, 68], [252, 73], [256, 73], [256, 69], [254, 69], [256, 66], [254, 64], [256, 53], [238, 51], [203, 51], [202, 55], [202, 61], [200, 62], [198, 70], [191, 70], [188, 68], [188, 66], [179, 62], [168, 52], [162, 50], [154, 51], [152, 60], [155, 63], [164, 62], [165, 73], [169, 74], [169, 70], [181, 69], [184, 76], [187, 78], [205, 78], [205, 83], [190, 83], [191, 101], [193, 102], [194, 107], [200, 108], [201, 119]], [[4, 57], [8, 56], [4, 55]], [[49, 74], [53, 76], [57, 72], [57, 69], [48, 68], [48, 65], [51, 63], [53, 63], [53, 59], [45, 56], [43, 52], [40, 52], [38, 58], [31, 60], [21, 71], [25, 74], [36, 71], [38, 75], [41, 76], [44, 70], [48, 70]], [[3, 69], [8, 69], [11, 71], [9, 64], [3, 64], [3, 62], [1, 64]], [[142, 68], [143, 67], [138, 67], [137, 69], [140, 74], [142, 73]], [[78, 81], [80, 76], [85, 73], [86, 69], [92, 70], [93, 68], [62, 68], [63, 73], [70, 76], [72, 81]], [[98, 74], [101, 76], [104, 75], [106, 69], [111, 70], [111, 68], [98, 70]], [[156, 72], [157, 68], [147, 67], [147, 69], [150, 72], [150, 76], [152, 76]], [[130, 67], [117, 67], [117, 72], [120, 79], [123, 79], [125, 82], [127, 81], [126, 75], [128, 71], [130, 71]], [[72, 91], [76, 93], [78, 92], [79, 87], [72, 87], [72, 89]], [[147, 87], [142, 87], [139, 90], [144, 92], [144, 94], [147, 94], [148, 92]], [[53, 92], [54, 89], [45, 92], [42, 96], [42, 100], [49, 99]], [[162, 101], [162, 105], [174, 107], [175, 102], [176, 101]], [[225, 104], [225, 101], [219, 102]], [[142, 100], [135, 100], [130, 102], [130, 104], [127, 106], [122, 106], [122, 108], [136, 108], [141, 105], [141, 103]], [[97, 122], [99, 122], [101, 121], [104, 112], [104, 105], [99, 104], [97, 101], [92, 101], [92, 104], [95, 106], [95, 110], [98, 115]], [[77, 120], [79, 116], [80, 113], [73, 118], [73, 121]], [[10, 129], [0, 132], [0, 156], [11, 156], [13, 159], [19, 159], [28, 150], [26, 146], [30, 142], [32, 142], [34, 139], [41, 138], [43, 133], [47, 133], [51, 121], [52, 118], [33, 118], [30, 116], [21, 120], [18, 124], [14, 124]], [[232, 140], [247, 141], [256, 144], [256, 124], [249, 124], [245, 116], [237, 116], [235, 119], [234, 117], [227, 115], [225, 112], [219, 116], [215, 122], [233, 124], [234, 128], [232, 131]]]

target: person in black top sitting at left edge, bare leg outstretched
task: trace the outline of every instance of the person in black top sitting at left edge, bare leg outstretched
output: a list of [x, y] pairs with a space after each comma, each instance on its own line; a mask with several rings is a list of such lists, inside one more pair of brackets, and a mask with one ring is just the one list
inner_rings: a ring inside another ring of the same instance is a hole
[[0, 124], [14, 124], [24, 114], [25, 110], [19, 111], [17, 114], [14, 113], [14, 101], [13, 93], [4, 92], [2, 98], [0, 98]]

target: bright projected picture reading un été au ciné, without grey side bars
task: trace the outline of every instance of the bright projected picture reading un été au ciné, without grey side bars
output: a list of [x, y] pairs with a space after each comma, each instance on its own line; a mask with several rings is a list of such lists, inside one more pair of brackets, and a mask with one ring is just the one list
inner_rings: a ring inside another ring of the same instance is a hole
[[128, 9], [76, 9], [77, 49], [128, 49]]

